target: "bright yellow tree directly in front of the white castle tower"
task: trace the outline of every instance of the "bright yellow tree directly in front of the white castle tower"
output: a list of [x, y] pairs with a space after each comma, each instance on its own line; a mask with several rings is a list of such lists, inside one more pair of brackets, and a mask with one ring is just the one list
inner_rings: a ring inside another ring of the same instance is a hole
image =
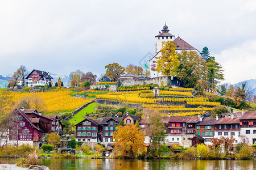
[[162, 46], [163, 48], [160, 50], [162, 56], [157, 57], [158, 65], [155, 70], [163, 75], [175, 76], [177, 75], [180, 64], [177, 53], [175, 52], [177, 46], [172, 41], [163, 41]]

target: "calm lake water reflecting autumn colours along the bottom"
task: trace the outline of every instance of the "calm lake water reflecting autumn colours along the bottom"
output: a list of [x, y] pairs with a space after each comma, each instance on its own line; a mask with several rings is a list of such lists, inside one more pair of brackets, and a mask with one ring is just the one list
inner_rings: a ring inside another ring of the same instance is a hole
[[[0, 159], [13, 164], [14, 159]], [[51, 169], [256, 169], [256, 160], [123, 160], [123, 159], [40, 159]]]

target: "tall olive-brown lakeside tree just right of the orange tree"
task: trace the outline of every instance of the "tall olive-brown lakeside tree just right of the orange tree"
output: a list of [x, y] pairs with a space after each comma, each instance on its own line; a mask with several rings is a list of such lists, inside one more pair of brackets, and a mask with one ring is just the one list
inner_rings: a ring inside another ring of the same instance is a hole
[[162, 117], [158, 109], [146, 108], [143, 112], [145, 117], [149, 116], [150, 118], [146, 129], [146, 134], [150, 141], [150, 143], [148, 143], [146, 156], [150, 152], [155, 155], [156, 151], [158, 151], [162, 143], [164, 143], [164, 138], [166, 137], [164, 130], [166, 130], [166, 127], [162, 122]]

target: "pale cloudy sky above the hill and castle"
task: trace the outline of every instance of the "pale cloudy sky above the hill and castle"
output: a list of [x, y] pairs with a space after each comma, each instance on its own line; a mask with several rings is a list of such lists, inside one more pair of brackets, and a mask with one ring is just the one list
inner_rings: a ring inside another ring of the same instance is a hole
[[20, 65], [59, 75], [100, 75], [155, 53], [167, 22], [223, 67], [224, 82], [256, 79], [256, 1], [1, 1], [0, 75]]

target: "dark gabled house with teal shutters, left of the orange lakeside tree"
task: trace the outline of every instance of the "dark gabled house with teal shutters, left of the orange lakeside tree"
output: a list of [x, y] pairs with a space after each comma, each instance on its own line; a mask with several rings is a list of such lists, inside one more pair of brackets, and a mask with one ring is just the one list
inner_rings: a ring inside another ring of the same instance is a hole
[[98, 133], [102, 131], [100, 120], [85, 118], [76, 124], [76, 141], [82, 142], [100, 142], [101, 136]]

